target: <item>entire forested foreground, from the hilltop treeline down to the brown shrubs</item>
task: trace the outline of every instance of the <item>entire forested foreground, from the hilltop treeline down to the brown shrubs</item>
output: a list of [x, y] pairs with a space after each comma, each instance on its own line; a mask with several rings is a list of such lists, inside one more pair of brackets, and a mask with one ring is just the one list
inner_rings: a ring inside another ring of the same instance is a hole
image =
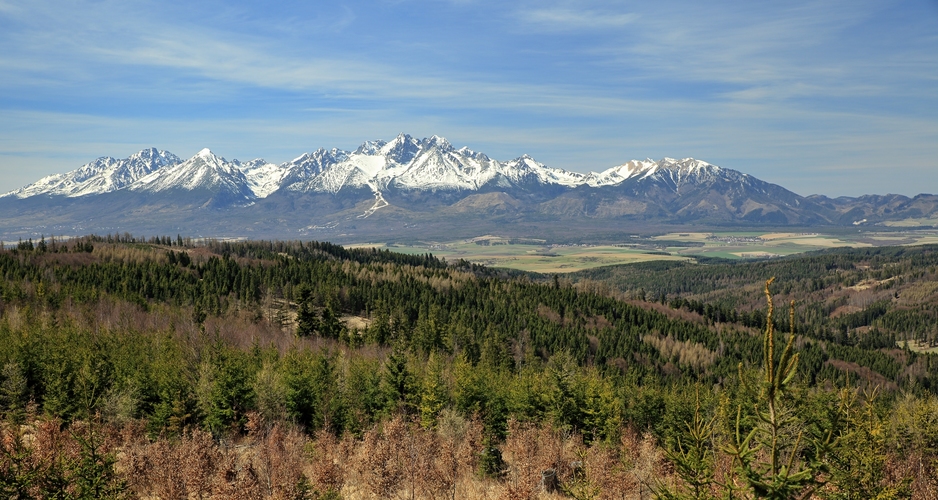
[[4, 498], [938, 498], [938, 247], [0, 250]]

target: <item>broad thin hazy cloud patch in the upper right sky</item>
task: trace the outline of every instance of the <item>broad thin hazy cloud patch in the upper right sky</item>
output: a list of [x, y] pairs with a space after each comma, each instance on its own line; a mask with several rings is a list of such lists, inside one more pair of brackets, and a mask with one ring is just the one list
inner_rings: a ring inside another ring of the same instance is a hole
[[876, 96], [935, 75], [938, 63], [934, 42], [890, 51], [887, 40], [903, 35], [865, 35], [886, 8], [878, 1], [750, 4], [732, 14], [711, 3], [680, 7], [679, 16], [645, 11], [620, 38], [588, 50], [627, 78], [726, 85], [719, 94], [730, 99]]

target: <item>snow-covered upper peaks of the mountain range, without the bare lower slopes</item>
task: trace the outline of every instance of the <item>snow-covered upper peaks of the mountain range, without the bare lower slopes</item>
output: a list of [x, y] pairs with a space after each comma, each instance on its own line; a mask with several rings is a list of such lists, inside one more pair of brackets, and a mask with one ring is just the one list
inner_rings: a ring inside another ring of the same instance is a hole
[[418, 140], [400, 134], [391, 141], [365, 142], [352, 152], [319, 149], [280, 165], [261, 159], [227, 161], [209, 149], [183, 161], [151, 148], [123, 160], [99, 158], [2, 196], [79, 197], [117, 190], [180, 190], [223, 192], [247, 202], [278, 190], [331, 194], [362, 188], [373, 192], [478, 191], [486, 186], [602, 187], [641, 180], [666, 182], [679, 189], [683, 183], [725, 176], [748, 177], [693, 158], [633, 160], [603, 172], [581, 174], [547, 167], [527, 155], [502, 162], [466, 147], [455, 149], [442, 137]]

